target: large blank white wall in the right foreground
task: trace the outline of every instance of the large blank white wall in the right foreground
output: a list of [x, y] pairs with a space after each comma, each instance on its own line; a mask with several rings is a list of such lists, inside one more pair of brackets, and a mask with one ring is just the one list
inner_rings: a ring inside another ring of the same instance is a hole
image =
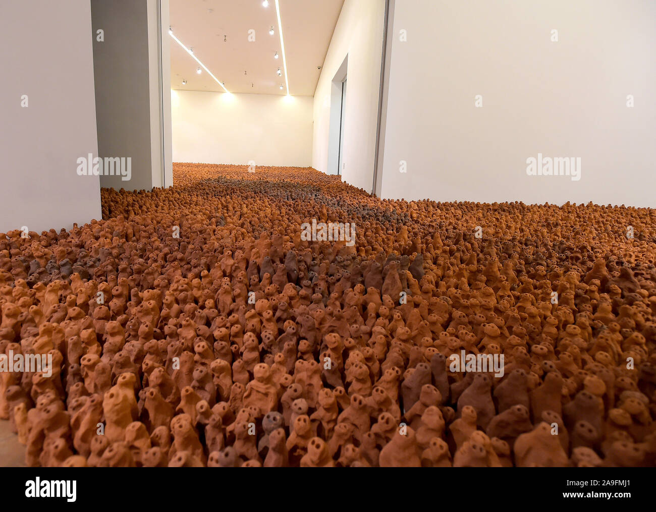
[[[381, 197], [655, 207], [655, 23], [653, 0], [394, 1]], [[529, 176], [539, 153], [580, 179]]]

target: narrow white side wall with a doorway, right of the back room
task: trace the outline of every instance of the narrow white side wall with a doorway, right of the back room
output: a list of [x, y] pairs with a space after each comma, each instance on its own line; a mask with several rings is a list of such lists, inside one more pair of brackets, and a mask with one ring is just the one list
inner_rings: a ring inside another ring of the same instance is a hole
[[373, 184], [384, 11], [384, 0], [344, 2], [314, 92], [312, 167], [337, 174], [337, 166], [329, 166], [331, 109], [338, 98], [333, 79], [348, 57], [342, 179], [366, 191]]

